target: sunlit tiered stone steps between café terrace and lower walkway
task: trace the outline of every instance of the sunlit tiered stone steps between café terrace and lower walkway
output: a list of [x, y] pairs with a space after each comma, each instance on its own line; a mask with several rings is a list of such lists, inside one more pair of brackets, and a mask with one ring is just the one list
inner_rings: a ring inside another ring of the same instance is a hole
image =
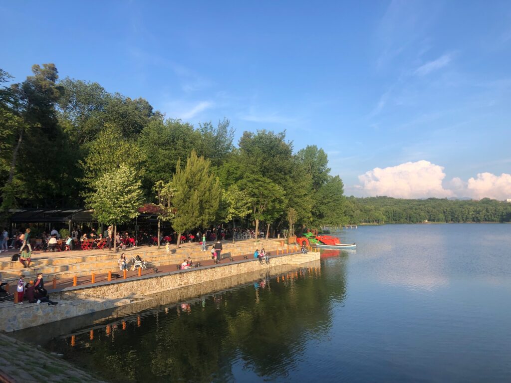
[[[133, 265], [133, 257], [140, 256], [148, 262], [149, 267], [159, 267], [162, 265], [179, 265], [183, 259], [192, 258], [193, 262], [200, 262], [211, 259], [211, 247], [208, 244], [206, 251], [201, 251], [199, 245], [192, 245], [180, 249], [171, 249], [167, 254], [165, 247], [158, 250], [152, 247], [137, 247], [128, 251], [119, 251], [113, 253], [108, 250], [91, 251], [66, 251], [56, 255], [51, 253], [38, 253], [32, 256], [32, 263], [29, 268], [24, 268], [19, 261], [4, 260], [0, 261], [0, 272], [5, 282], [15, 281], [23, 273], [26, 280], [34, 279], [37, 273], [43, 273], [45, 280], [63, 278], [81, 277], [86, 275], [108, 273], [109, 271], [119, 271], [118, 259], [121, 253], [125, 253], [128, 260], [128, 266]], [[222, 256], [247, 255], [251, 256], [256, 248], [265, 248], [266, 252], [276, 254], [277, 250], [282, 254], [287, 251], [287, 245], [282, 245], [279, 240], [260, 240], [257, 244], [253, 240], [239, 241], [236, 243], [223, 242]], [[174, 246], [175, 247], [175, 246]], [[289, 251], [296, 251], [296, 245], [290, 245]]]

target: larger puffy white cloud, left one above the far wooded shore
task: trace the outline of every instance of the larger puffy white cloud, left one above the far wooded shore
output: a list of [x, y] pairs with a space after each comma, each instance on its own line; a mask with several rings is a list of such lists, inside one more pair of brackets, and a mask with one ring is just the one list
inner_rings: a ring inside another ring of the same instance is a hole
[[444, 167], [429, 161], [406, 162], [397, 166], [375, 167], [358, 177], [369, 195], [396, 198], [453, 197], [442, 186]]

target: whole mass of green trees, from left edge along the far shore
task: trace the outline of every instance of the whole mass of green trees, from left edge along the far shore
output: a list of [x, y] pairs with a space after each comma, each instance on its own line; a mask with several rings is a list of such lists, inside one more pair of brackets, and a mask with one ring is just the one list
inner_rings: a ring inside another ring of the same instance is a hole
[[[6, 219], [13, 208], [95, 206], [101, 222], [114, 223], [100, 212], [113, 209], [101, 193], [123, 201], [134, 187], [136, 203], [128, 204], [129, 214], [116, 212], [119, 219], [136, 214], [138, 203], [158, 204], [176, 231], [233, 220], [274, 231], [511, 221], [511, 204], [486, 199], [345, 198], [323, 149], [295, 151], [285, 131], [239, 137], [234, 142], [225, 117], [194, 126], [97, 82], [60, 80], [51, 63], [34, 65], [22, 82], [0, 69], [0, 210]], [[122, 174], [127, 179], [119, 179]]]

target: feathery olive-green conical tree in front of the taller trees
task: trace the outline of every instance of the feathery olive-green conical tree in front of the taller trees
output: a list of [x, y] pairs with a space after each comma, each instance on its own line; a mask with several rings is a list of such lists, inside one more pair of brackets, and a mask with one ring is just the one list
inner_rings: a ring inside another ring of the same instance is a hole
[[210, 161], [198, 157], [195, 150], [188, 157], [184, 169], [181, 169], [178, 161], [172, 187], [176, 190], [173, 227], [177, 232], [176, 248], [179, 248], [181, 234], [186, 230], [214, 222], [222, 189], [220, 181], [210, 171]]

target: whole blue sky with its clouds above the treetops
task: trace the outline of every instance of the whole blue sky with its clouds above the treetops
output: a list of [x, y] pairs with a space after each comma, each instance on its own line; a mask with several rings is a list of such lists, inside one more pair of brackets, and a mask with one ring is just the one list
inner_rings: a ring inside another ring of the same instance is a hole
[[3, 1], [0, 67], [285, 129], [348, 195], [511, 198], [510, 2], [184, 3]]

